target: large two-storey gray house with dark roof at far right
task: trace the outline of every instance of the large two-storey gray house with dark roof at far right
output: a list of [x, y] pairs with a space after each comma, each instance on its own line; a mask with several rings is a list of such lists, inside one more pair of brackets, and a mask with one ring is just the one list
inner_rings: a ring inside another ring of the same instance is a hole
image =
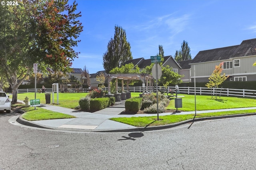
[[[240, 45], [199, 51], [191, 61], [191, 78], [194, 82], [208, 82], [216, 65], [223, 62], [223, 71], [229, 78], [226, 81], [255, 81], [256, 39], [242, 41]], [[194, 75], [195, 69], [195, 75]]]

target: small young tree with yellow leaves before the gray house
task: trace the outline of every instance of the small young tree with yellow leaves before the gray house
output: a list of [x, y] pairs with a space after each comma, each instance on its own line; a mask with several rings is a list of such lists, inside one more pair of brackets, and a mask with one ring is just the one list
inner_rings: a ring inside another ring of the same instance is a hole
[[[223, 70], [222, 66], [223, 66], [223, 62], [220, 63], [218, 66], [215, 66], [215, 69], [212, 72], [212, 75], [208, 78], [209, 82], [206, 83], [205, 86], [207, 86], [208, 88], [212, 88], [212, 87], [218, 88], [218, 86], [222, 84], [229, 77], [229, 76], [226, 76], [225, 73], [221, 75], [221, 72]], [[217, 99], [217, 93], [215, 94]]]

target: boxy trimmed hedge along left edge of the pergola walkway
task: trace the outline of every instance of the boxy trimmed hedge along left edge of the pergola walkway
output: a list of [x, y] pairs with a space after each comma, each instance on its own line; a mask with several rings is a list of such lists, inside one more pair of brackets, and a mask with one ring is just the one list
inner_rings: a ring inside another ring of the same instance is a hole
[[90, 100], [90, 111], [98, 111], [108, 107], [110, 98], [94, 98]]

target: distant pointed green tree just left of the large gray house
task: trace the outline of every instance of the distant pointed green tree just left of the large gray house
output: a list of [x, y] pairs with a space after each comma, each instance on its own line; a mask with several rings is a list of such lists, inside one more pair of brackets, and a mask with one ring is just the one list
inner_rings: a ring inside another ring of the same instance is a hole
[[191, 54], [190, 54], [190, 47], [188, 46], [188, 42], [183, 40], [183, 43], [181, 44], [180, 51], [175, 52], [174, 59], [176, 61], [184, 61], [184, 60], [191, 60]]

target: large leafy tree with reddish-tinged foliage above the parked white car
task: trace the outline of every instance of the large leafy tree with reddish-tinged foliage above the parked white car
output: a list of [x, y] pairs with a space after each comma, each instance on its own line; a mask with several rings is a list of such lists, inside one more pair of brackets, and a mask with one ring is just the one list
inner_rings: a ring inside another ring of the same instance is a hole
[[12, 86], [12, 102], [18, 86], [32, 72], [33, 63], [44, 70], [68, 71], [74, 58], [82, 23], [76, 2], [22, 0], [16, 6], [0, 6], [0, 66]]

